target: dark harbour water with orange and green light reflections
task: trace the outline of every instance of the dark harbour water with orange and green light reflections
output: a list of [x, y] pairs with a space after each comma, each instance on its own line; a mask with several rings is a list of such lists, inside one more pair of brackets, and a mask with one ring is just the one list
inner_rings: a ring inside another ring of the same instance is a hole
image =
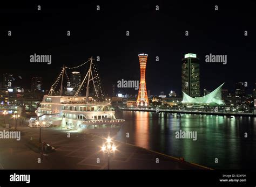
[[[248, 169], [256, 166], [256, 119], [119, 111], [125, 124], [116, 139], [134, 145], [184, 157], [186, 161], [215, 169]], [[176, 139], [176, 131], [197, 132], [197, 141]], [[130, 138], [125, 133], [130, 133]], [[248, 138], [245, 138], [245, 132]], [[215, 163], [218, 158], [218, 163]]]

